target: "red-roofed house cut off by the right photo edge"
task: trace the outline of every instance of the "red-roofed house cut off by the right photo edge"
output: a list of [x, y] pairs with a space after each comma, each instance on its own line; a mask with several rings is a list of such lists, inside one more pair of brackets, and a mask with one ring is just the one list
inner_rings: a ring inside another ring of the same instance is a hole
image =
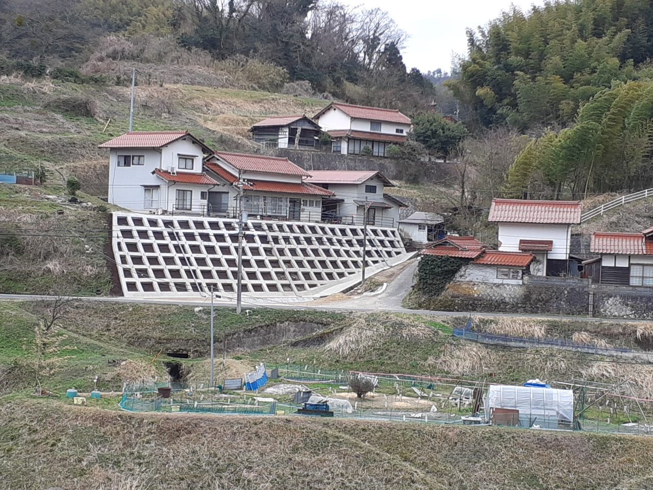
[[599, 255], [584, 262], [584, 276], [593, 283], [653, 287], [653, 228], [641, 233], [597, 231], [590, 237], [590, 252]]

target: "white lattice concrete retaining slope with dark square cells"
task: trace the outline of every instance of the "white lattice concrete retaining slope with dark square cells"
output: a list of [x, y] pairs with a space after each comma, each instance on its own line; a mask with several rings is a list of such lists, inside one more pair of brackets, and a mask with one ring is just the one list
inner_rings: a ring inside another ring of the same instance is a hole
[[[112, 246], [125, 296], [236, 294], [236, 220], [114, 213]], [[396, 229], [368, 227], [367, 272], [406, 260]], [[249, 221], [243, 245], [243, 294], [318, 297], [360, 280], [363, 229], [289, 221]]]

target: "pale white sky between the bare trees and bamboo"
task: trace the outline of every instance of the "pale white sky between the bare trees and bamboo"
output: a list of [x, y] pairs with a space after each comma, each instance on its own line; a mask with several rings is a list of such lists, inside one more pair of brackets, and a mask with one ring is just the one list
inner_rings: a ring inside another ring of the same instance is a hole
[[528, 12], [543, 0], [340, 0], [340, 3], [387, 10], [409, 34], [402, 50], [407, 69], [451, 71], [453, 52], [466, 55], [465, 29], [475, 29], [515, 5]]

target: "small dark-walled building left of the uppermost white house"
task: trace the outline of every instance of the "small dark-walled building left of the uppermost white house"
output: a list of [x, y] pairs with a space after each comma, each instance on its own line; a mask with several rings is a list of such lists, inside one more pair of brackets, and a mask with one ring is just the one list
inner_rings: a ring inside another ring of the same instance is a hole
[[319, 125], [306, 114], [272, 116], [255, 123], [252, 139], [266, 148], [315, 148], [321, 133]]

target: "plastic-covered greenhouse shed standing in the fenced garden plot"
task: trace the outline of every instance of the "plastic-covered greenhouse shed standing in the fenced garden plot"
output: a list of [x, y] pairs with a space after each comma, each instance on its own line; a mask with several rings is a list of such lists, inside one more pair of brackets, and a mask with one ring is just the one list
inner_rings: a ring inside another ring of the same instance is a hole
[[490, 385], [485, 399], [485, 416], [501, 423], [505, 414], [515, 414], [520, 427], [571, 429], [573, 391], [538, 386]]

